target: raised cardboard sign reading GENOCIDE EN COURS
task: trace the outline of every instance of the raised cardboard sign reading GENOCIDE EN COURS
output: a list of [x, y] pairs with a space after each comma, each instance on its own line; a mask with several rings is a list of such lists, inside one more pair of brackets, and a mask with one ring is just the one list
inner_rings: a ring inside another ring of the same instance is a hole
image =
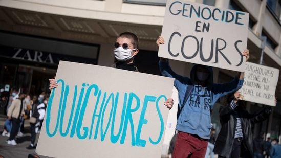
[[244, 71], [249, 13], [168, 0], [158, 56]]

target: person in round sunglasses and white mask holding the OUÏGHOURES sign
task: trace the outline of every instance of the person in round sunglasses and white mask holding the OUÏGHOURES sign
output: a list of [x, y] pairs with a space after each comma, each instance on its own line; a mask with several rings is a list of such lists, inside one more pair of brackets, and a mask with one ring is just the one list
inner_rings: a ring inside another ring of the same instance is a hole
[[[139, 39], [131, 32], [121, 33], [114, 43], [114, 56], [117, 60], [116, 63], [109, 67], [139, 72], [138, 68], [134, 65], [134, 58], [139, 53]], [[55, 79], [49, 79], [50, 87], [52, 90], [58, 86]], [[169, 98], [164, 103], [169, 109], [174, 105], [174, 100]]]

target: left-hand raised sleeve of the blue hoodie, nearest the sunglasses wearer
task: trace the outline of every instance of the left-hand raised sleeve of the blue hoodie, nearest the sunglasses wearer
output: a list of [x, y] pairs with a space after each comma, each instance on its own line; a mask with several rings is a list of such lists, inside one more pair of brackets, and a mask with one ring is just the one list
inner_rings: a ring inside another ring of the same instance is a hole
[[189, 80], [188, 77], [183, 77], [181, 75], [176, 74], [174, 71], [172, 71], [171, 67], [169, 66], [168, 61], [167, 62], [159, 61], [159, 67], [160, 67], [162, 76], [175, 78], [174, 86], [178, 89], [178, 91], [186, 90], [186, 88], [184, 89], [182, 85], [185, 83], [188, 83], [188, 80]]

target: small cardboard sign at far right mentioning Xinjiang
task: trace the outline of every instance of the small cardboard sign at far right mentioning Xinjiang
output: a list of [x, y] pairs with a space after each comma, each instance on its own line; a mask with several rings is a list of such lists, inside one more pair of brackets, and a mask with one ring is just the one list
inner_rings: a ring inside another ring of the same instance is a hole
[[246, 62], [244, 83], [239, 90], [242, 100], [275, 106], [275, 89], [279, 70], [273, 67]]

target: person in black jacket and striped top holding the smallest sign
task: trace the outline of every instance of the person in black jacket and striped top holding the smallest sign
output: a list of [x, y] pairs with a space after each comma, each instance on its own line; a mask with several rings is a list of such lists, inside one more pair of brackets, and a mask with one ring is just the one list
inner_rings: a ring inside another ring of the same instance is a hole
[[223, 106], [219, 110], [222, 128], [213, 150], [219, 157], [253, 157], [251, 124], [262, 122], [271, 114], [271, 106], [266, 106], [256, 114], [249, 114], [244, 101], [239, 98], [238, 91], [223, 98]]

